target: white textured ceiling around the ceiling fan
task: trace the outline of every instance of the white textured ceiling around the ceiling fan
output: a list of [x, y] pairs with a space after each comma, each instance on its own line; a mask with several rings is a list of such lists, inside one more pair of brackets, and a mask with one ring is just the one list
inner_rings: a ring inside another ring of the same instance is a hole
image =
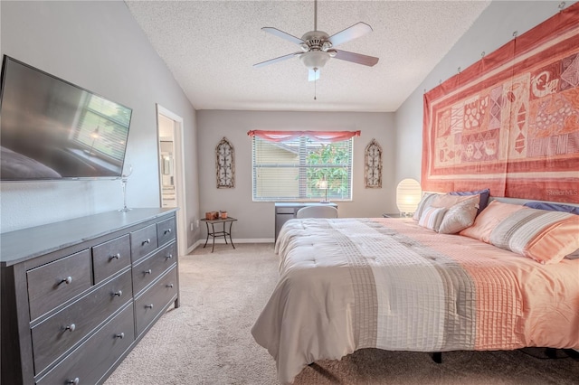
[[126, 3], [195, 109], [280, 111], [395, 111], [489, 5], [319, 1], [318, 30], [332, 35], [368, 23], [372, 33], [337, 48], [380, 61], [366, 67], [330, 59], [314, 84], [297, 57], [252, 67], [299, 52], [261, 27], [301, 37], [314, 29], [313, 1]]

